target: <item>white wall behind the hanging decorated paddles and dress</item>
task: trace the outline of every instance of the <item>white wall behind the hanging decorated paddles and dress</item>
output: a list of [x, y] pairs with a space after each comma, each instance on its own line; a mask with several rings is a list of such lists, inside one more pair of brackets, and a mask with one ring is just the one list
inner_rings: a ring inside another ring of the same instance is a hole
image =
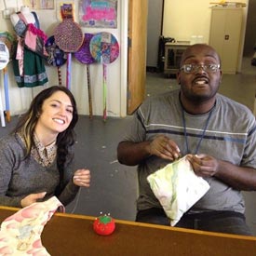
[[[74, 1], [75, 21], [78, 18], [78, 0]], [[17, 7], [23, 5], [21, 0], [7, 0], [7, 7]], [[4, 2], [0, 0], [0, 10], [4, 9]], [[56, 9], [54, 10], [39, 10], [36, 9], [36, 14], [40, 20], [40, 26], [45, 33], [50, 36], [53, 34], [54, 28], [59, 24], [57, 19]], [[2, 12], [2, 11], [1, 11]], [[84, 33], [98, 33], [107, 31], [115, 35], [120, 46], [119, 58], [107, 65], [107, 115], [109, 116], [125, 116], [127, 109], [127, 20], [128, 20], [128, 0], [118, 0], [117, 10], [117, 29], [91, 29], [82, 27]], [[0, 31], [8, 31], [13, 33], [13, 28], [10, 20], [3, 19], [0, 13]], [[18, 88], [13, 71], [12, 64], [8, 64], [8, 84], [10, 98], [10, 113], [11, 115], [20, 115], [25, 112], [36, 95], [43, 88], [48, 86], [58, 85], [57, 69], [46, 64], [48, 84], [44, 87], [36, 88]], [[62, 83], [65, 85], [66, 66], [61, 67]], [[102, 115], [102, 65], [100, 63], [90, 65], [91, 89], [92, 89], [92, 108], [93, 115]], [[3, 74], [0, 76], [0, 88], [2, 92], [2, 100], [5, 104], [3, 90]], [[88, 115], [88, 86], [86, 66], [81, 64], [73, 57], [72, 61], [72, 86], [71, 91], [74, 93], [75, 100], [78, 105], [80, 115]]]

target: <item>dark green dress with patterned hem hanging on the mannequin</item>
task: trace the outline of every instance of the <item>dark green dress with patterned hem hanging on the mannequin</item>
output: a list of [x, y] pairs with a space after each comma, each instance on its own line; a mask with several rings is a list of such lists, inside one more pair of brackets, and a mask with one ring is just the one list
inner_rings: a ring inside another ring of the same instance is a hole
[[[19, 15], [20, 12], [17, 14]], [[35, 20], [34, 26], [40, 28], [39, 20], [34, 11], [32, 14]], [[13, 60], [13, 71], [18, 87], [34, 88], [43, 86], [48, 82], [44, 60], [41, 56], [24, 47], [23, 36], [26, 31], [25, 22], [20, 19], [14, 26], [14, 30], [18, 35], [18, 44], [15, 49], [16, 58]]]

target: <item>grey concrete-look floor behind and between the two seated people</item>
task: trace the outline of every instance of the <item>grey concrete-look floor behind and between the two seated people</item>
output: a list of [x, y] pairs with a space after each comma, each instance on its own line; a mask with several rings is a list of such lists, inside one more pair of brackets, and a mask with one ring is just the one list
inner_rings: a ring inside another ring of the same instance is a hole
[[[250, 59], [243, 61], [240, 74], [223, 74], [220, 92], [253, 110], [256, 88], [256, 67]], [[146, 97], [165, 92], [178, 85], [164, 74], [147, 73]], [[77, 144], [75, 167], [91, 170], [91, 186], [83, 188], [67, 212], [98, 216], [110, 213], [115, 219], [133, 221], [136, 212], [137, 173], [135, 167], [120, 165], [116, 160], [116, 146], [122, 139], [131, 116], [108, 118], [82, 115], [75, 128]], [[14, 127], [17, 116], [12, 117], [7, 128], [0, 128], [0, 137]], [[245, 193], [247, 219], [256, 235], [256, 192]]]

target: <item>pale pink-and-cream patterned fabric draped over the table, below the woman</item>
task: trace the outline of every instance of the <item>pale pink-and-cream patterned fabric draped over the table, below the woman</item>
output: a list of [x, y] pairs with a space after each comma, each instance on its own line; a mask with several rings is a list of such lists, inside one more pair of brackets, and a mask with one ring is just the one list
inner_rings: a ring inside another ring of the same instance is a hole
[[0, 255], [48, 256], [41, 233], [57, 209], [64, 207], [57, 197], [20, 209], [1, 224]]

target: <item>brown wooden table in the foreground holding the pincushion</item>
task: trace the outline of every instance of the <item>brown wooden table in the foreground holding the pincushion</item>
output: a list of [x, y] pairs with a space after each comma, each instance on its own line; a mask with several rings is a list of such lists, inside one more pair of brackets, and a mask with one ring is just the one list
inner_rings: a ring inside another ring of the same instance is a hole
[[[17, 209], [0, 207], [0, 222]], [[94, 233], [95, 217], [55, 213], [42, 242], [52, 256], [255, 256], [256, 237], [115, 221], [115, 233]]]

